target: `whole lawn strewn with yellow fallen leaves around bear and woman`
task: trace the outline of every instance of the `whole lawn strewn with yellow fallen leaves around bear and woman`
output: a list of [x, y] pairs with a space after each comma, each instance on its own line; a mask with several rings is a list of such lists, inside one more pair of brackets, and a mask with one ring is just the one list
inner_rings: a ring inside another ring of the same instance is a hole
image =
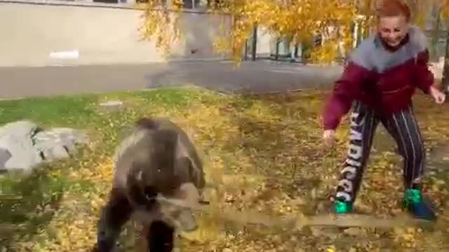
[[[2, 101], [0, 124], [26, 118], [44, 127], [76, 127], [88, 130], [92, 143], [25, 179], [2, 175], [0, 251], [88, 251], [111, 186], [114, 147], [142, 116], [179, 123], [201, 151], [208, 181], [239, 188], [224, 193], [220, 206], [274, 216], [326, 214], [347, 153], [348, 123], [338, 131], [335, 149], [323, 148], [319, 114], [325, 97], [319, 91], [229, 96], [186, 87]], [[98, 105], [111, 99], [124, 104]], [[449, 251], [448, 108], [415, 98], [428, 152], [426, 193], [438, 209], [432, 228], [268, 229], [203, 214], [200, 230], [179, 240], [181, 251]], [[401, 169], [394, 141], [380, 126], [356, 211], [401, 215]], [[119, 251], [133, 251], [133, 242], [127, 225]]]

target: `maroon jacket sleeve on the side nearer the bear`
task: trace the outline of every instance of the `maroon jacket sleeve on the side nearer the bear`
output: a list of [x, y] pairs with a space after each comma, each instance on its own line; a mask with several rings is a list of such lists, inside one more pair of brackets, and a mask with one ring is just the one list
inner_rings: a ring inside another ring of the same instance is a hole
[[352, 102], [361, 93], [361, 85], [369, 81], [370, 70], [349, 62], [340, 79], [335, 82], [333, 93], [323, 114], [325, 130], [335, 130], [342, 117], [351, 109]]

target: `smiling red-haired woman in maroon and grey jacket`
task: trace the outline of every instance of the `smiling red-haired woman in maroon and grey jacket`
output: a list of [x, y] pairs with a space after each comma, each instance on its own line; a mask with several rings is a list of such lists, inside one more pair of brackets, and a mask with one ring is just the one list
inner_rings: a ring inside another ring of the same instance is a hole
[[377, 33], [351, 53], [323, 115], [323, 139], [333, 144], [335, 129], [354, 104], [349, 152], [337, 186], [334, 211], [351, 211], [375, 129], [382, 123], [404, 158], [405, 207], [416, 218], [434, 220], [434, 211], [422, 202], [426, 153], [411, 98], [415, 87], [430, 94], [437, 104], [443, 104], [445, 94], [434, 86], [434, 76], [427, 68], [426, 37], [410, 25], [410, 8], [401, 1], [389, 0], [383, 1], [377, 11]]

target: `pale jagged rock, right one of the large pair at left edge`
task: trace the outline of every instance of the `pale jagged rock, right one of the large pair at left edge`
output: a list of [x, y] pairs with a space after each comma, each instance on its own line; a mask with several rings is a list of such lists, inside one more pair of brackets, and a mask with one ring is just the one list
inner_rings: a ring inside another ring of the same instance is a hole
[[88, 136], [80, 130], [53, 128], [38, 132], [32, 137], [34, 146], [46, 160], [68, 158], [75, 153], [76, 144], [88, 144]]

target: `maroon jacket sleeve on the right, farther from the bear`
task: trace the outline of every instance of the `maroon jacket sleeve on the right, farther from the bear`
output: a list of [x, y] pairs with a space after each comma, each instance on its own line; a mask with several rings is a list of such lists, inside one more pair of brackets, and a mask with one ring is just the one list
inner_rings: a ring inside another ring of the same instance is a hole
[[429, 51], [424, 50], [416, 56], [416, 85], [424, 94], [429, 94], [430, 86], [434, 84], [434, 74], [429, 70]]

